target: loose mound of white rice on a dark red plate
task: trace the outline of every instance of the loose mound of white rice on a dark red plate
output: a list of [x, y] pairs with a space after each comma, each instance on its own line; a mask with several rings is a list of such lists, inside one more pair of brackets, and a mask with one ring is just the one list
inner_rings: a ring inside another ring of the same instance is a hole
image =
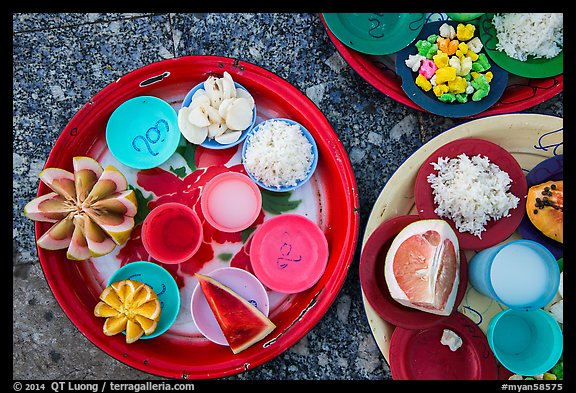
[[438, 206], [434, 212], [453, 220], [460, 232], [482, 238], [488, 221], [508, 217], [518, 206], [520, 199], [508, 192], [510, 176], [488, 157], [460, 154], [439, 157], [431, 165], [438, 171], [427, 178]]

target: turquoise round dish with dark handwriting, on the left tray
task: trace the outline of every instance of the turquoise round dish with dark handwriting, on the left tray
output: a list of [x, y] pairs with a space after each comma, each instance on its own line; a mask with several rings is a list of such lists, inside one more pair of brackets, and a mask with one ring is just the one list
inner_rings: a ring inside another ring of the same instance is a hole
[[139, 96], [120, 105], [106, 125], [106, 142], [121, 163], [136, 169], [161, 165], [180, 143], [178, 115], [166, 101]]

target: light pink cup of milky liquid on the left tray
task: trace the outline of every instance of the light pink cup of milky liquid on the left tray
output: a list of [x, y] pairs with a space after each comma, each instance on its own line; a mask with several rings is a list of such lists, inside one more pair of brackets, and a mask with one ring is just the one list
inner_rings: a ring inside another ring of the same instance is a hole
[[258, 218], [262, 194], [248, 176], [225, 172], [206, 183], [200, 206], [204, 218], [214, 228], [222, 232], [239, 232]]

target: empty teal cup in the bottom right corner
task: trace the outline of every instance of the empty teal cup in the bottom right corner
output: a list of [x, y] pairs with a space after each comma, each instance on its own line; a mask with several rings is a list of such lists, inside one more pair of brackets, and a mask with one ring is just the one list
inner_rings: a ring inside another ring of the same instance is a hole
[[549, 371], [564, 348], [560, 325], [544, 310], [501, 311], [491, 319], [487, 338], [502, 366], [522, 376]]

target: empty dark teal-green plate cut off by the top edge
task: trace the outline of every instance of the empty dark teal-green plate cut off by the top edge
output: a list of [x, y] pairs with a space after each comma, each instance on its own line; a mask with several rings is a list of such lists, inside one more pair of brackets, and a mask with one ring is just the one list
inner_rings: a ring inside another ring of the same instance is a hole
[[330, 31], [344, 45], [369, 55], [388, 55], [408, 46], [426, 22], [420, 13], [324, 13]]

